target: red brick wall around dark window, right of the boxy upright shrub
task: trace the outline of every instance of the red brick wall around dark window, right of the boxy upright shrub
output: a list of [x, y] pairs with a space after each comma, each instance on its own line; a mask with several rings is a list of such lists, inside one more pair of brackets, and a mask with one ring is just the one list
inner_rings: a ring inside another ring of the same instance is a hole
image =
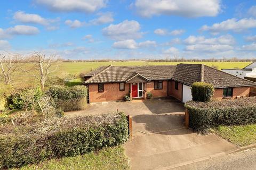
[[[234, 87], [233, 88], [233, 97], [237, 96], [246, 96], [249, 97], [250, 87]], [[214, 89], [213, 98], [222, 99], [223, 89]]]

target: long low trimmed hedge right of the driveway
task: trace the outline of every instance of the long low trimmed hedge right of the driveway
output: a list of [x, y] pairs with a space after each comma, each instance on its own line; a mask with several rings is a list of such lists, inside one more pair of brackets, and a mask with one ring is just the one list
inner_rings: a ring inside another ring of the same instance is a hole
[[199, 133], [218, 125], [256, 123], [256, 97], [208, 103], [188, 101], [185, 107], [189, 112], [189, 127]]

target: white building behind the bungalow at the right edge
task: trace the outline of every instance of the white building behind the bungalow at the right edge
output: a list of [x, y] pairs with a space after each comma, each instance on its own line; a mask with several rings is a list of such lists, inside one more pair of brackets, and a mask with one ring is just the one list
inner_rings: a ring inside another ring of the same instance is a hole
[[221, 71], [233, 74], [236, 77], [256, 81], [256, 62], [253, 62], [243, 69], [221, 69]]

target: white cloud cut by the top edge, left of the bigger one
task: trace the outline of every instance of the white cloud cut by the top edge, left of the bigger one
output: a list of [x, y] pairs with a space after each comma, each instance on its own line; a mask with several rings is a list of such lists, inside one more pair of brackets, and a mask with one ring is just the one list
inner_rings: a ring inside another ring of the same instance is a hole
[[48, 7], [52, 11], [93, 13], [106, 7], [107, 0], [36, 0], [38, 4]]

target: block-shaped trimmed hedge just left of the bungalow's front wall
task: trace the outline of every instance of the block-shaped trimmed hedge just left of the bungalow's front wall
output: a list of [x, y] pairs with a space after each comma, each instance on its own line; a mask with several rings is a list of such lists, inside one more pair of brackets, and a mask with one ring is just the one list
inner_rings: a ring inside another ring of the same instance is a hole
[[52, 86], [47, 91], [62, 111], [78, 111], [87, 105], [87, 88], [85, 86]]

